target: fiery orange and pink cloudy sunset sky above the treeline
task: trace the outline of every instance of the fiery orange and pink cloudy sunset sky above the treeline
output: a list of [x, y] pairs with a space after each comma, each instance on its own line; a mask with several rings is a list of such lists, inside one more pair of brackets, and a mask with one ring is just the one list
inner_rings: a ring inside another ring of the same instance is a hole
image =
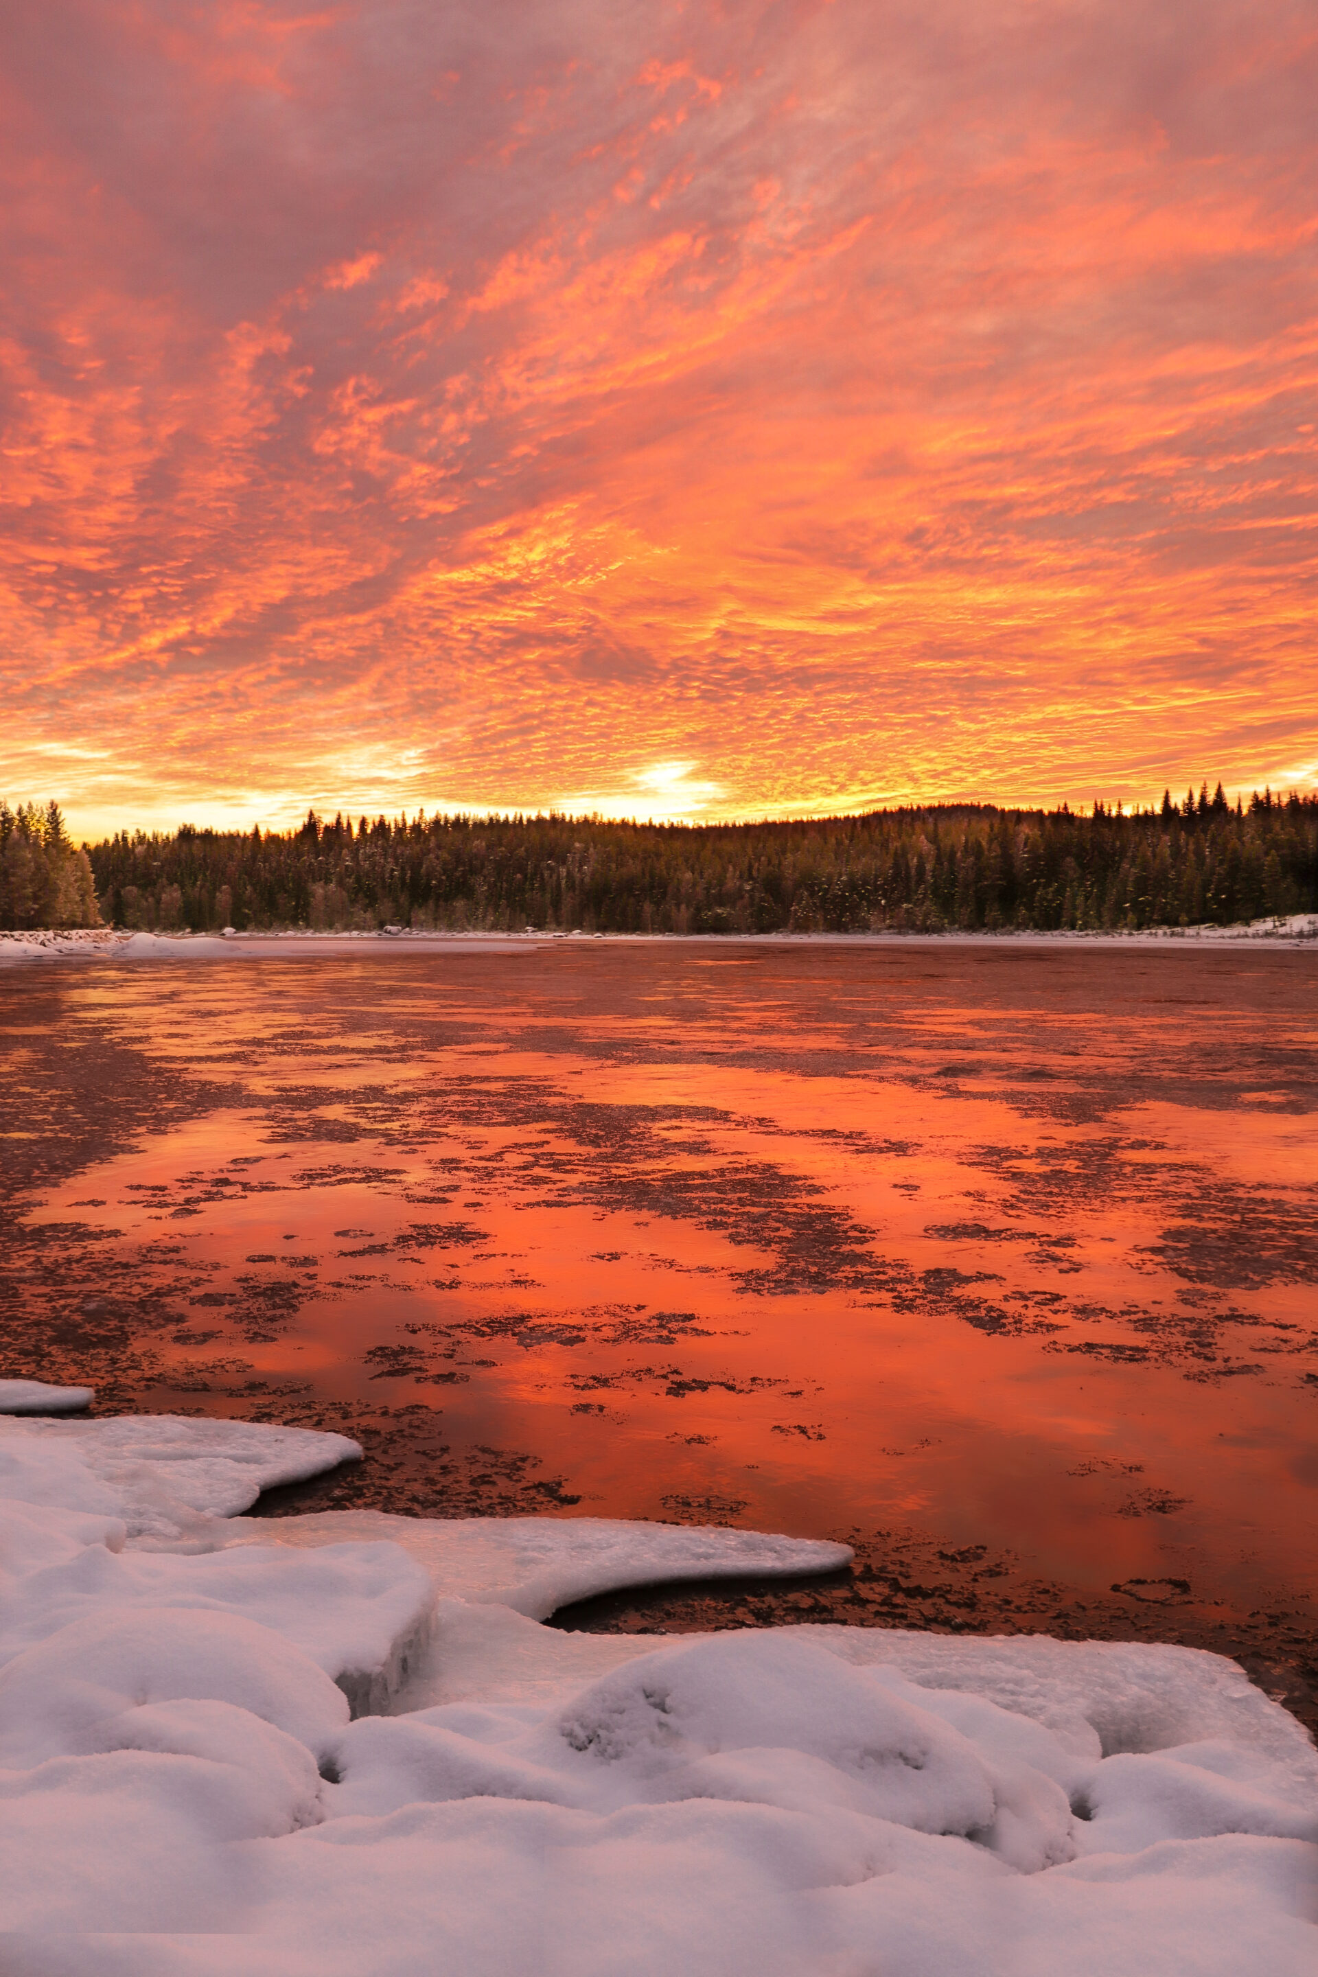
[[1318, 777], [1314, 0], [0, 26], [0, 795]]

